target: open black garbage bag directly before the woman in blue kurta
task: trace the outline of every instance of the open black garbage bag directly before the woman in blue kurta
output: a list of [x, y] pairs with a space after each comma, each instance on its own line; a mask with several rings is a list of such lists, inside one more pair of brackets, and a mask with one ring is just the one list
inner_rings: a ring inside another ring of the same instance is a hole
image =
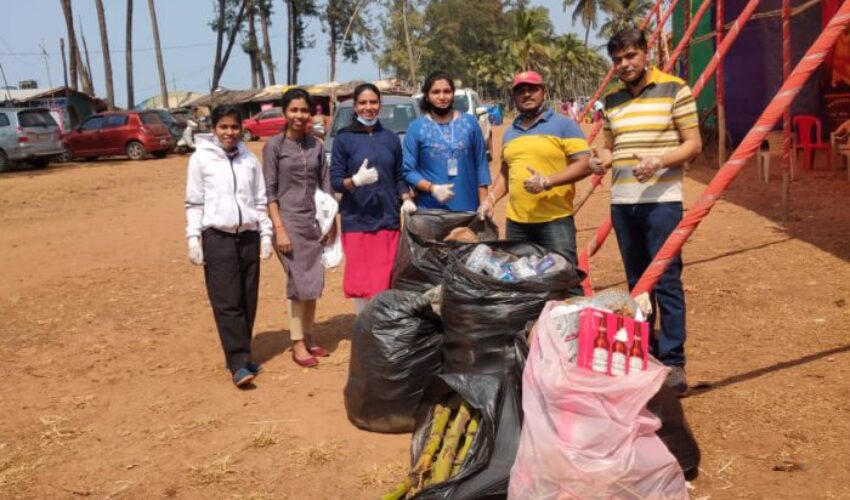
[[446, 243], [443, 239], [459, 227], [475, 232], [481, 241], [495, 241], [499, 228], [492, 220], [482, 221], [475, 212], [418, 210], [404, 222], [401, 241], [392, 273], [392, 287], [397, 290], [424, 292], [439, 285], [446, 267], [454, 256], [470, 248], [470, 244]]

